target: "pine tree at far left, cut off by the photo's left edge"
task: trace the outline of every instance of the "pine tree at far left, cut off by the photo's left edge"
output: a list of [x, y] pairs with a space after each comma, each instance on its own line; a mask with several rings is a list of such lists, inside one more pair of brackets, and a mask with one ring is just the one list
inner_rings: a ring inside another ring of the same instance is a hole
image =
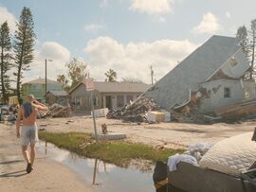
[[0, 74], [1, 74], [1, 92], [3, 96], [3, 102], [8, 101], [9, 97], [9, 75], [8, 71], [11, 67], [10, 63], [10, 36], [9, 36], [9, 26], [5, 22], [0, 26], [0, 51], [1, 51], [1, 60], [0, 60]]

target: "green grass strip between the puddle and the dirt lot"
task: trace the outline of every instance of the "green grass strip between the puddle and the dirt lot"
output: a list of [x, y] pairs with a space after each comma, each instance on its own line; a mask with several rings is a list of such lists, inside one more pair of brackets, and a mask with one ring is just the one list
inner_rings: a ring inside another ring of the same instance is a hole
[[132, 159], [167, 161], [174, 153], [183, 149], [156, 149], [144, 144], [129, 144], [121, 141], [101, 141], [94, 143], [90, 134], [80, 132], [46, 132], [40, 131], [39, 138], [50, 142], [59, 148], [66, 148], [79, 155], [101, 159], [117, 166], [128, 166]]

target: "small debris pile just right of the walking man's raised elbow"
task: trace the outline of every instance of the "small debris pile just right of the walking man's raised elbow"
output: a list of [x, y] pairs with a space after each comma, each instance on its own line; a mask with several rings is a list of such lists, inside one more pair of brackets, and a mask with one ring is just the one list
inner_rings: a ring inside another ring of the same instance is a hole
[[42, 117], [68, 117], [70, 116], [70, 106], [64, 107], [63, 105], [60, 104], [53, 104], [52, 106], [49, 107], [49, 111], [43, 115]]

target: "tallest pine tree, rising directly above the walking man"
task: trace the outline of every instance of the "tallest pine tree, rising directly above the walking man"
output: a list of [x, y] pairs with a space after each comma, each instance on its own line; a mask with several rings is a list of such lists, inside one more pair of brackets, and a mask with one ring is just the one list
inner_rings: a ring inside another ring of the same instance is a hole
[[17, 77], [17, 96], [21, 98], [21, 83], [23, 73], [29, 70], [29, 63], [33, 61], [35, 44], [34, 23], [30, 9], [24, 8], [21, 12], [17, 30], [14, 35], [14, 61], [17, 71], [13, 74]]

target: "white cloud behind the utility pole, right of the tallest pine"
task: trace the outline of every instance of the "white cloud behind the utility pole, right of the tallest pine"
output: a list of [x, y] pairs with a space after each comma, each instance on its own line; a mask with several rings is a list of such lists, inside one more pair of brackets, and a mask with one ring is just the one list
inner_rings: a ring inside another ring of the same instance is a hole
[[[56, 79], [59, 74], [66, 74], [65, 63], [70, 60], [70, 52], [56, 42], [45, 42], [34, 52], [35, 59], [30, 70], [26, 72], [26, 79], [45, 78], [45, 62], [47, 61], [47, 78]], [[49, 61], [52, 60], [52, 61]]]

